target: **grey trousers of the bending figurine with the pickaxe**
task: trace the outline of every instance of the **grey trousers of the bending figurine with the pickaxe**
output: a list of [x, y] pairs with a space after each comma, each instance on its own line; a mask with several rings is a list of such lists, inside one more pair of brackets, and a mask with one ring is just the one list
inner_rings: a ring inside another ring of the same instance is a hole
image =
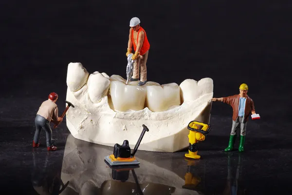
[[37, 117], [35, 118], [35, 124], [36, 124], [36, 132], [34, 137], [35, 143], [38, 143], [41, 130], [44, 129], [46, 132], [47, 147], [50, 147], [52, 145], [52, 129], [50, 127], [50, 122], [46, 118], [37, 115]]

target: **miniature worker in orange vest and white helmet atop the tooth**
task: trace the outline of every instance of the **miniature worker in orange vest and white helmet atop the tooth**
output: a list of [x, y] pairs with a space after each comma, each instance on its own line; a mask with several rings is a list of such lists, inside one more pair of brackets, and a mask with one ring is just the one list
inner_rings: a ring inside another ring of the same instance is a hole
[[134, 45], [135, 54], [132, 56], [134, 62], [133, 76], [129, 81], [137, 81], [139, 79], [139, 69], [141, 67], [139, 86], [145, 85], [147, 82], [146, 74], [146, 61], [148, 58], [148, 52], [150, 44], [148, 42], [145, 30], [140, 26], [140, 20], [134, 17], [130, 20], [130, 32], [128, 40], [128, 52], [126, 56], [132, 52], [132, 46]]

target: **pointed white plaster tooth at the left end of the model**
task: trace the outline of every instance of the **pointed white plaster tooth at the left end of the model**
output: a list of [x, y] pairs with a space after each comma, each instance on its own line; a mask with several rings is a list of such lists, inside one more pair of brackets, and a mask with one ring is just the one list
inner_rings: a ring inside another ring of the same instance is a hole
[[81, 63], [70, 63], [67, 71], [67, 86], [72, 92], [76, 92], [86, 83], [88, 71]]

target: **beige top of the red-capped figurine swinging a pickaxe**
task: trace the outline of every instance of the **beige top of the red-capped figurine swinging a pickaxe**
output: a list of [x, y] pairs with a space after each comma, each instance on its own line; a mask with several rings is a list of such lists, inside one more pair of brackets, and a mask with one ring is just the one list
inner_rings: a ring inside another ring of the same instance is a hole
[[37, 111], [37, 115], [40, 115], [44, 118], [46, 118], [49, 122], [53, 119], [55, 121], [57, 121], [58, 119], [58, 107], [57, 104], [55, 104], [54, 101], [48, 99], [46, 101], [44, 101], [38, 111]]

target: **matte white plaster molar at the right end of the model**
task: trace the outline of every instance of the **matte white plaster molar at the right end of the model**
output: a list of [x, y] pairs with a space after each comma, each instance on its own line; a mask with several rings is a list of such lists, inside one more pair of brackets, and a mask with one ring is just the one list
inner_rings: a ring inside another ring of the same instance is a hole
[[212, 78], [202, 78], [197, 82], [194, 79], [185, 79], [181, 84], [181, 101], [196, 100], [203, 94], [209, 94], [213, 92], [213, 80]]

